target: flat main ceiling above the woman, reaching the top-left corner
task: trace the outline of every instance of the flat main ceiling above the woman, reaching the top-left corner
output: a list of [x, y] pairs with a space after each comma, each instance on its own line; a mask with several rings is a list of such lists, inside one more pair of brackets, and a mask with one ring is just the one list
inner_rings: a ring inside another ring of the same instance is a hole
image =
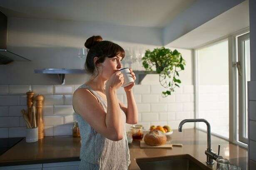
[[1, 0], [7, 17], [165, 27], [196, 0]]

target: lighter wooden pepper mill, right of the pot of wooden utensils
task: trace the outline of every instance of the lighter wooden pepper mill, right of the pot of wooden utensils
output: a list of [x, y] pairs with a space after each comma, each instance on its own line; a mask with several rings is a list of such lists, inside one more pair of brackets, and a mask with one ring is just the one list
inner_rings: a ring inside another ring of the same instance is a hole
[[40, 140], [44, 138], [44, 121], [42, 116], [42, 104], [44, 96], [39, 94], [35, 97], [35, 100], [37, 101], [35, 106], [37, 108], [38, 140]]

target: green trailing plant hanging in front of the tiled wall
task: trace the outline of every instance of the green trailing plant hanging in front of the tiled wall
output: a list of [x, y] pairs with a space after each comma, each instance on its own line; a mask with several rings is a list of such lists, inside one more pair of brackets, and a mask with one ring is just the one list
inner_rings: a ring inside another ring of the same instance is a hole
[[153, 71], [152, 67], [156, 68], [159, 74], [159, 82], [167, 91], [162, 91], [162, 96], [167, 97], [174, 92], [176, 87], [179, 87], [179, 71], [184, 70], [186, 65], [181, 53], [176, 49], [172, 52], [165, 47], [155, 48], [152, 52], [148, 49], [145, 56], [142, 57], [143, 67], [147, 71]]

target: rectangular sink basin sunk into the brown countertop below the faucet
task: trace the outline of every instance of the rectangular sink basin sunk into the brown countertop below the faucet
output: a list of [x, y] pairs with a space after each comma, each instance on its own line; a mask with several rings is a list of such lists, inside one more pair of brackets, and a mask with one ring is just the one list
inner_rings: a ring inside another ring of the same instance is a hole
[[135, 160], [141, 170], [212, 170], [188, 154]]

